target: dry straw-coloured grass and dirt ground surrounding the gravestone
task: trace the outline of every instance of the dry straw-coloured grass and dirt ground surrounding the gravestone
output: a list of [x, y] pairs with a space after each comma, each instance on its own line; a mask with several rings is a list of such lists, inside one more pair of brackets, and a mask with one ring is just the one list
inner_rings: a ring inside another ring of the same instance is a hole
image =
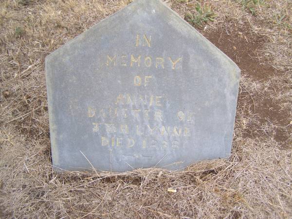
[[288, 0], [166, 1], [242, 70], [228, 160], [53, 173], [44, 58], [128, 3], [0, 2], [0, 218], [292, 218]]

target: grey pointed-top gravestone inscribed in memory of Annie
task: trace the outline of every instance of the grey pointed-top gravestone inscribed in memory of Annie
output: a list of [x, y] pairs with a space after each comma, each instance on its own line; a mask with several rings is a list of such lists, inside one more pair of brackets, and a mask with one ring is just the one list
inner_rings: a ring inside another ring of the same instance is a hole
[[182, 169], [230, 155], [240, 70], [160, 0], [46, 58], [55, 170]]

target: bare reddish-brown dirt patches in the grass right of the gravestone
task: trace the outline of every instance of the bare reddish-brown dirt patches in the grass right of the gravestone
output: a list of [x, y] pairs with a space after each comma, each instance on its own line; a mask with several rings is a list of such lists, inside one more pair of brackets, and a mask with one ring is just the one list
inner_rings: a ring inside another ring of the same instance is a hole
[[[263, 48], [266, 39], [252, 34], [248, 26], [234, 25], [232, 28], [222, 28], [216, 32], [202, 34], [237, 64], [241, 69], [242, 75], [246, 75], [258, 81], [258, 83], [265, 83], [273, 78], [275, 74], [281, 74], [270, 65], [260, 64], [257, 52]], [[280, 91], [281, 89], [275, 84], [271, 88], [271, 92]], [[245, 88], [241, 90], [245, 91]], [[287, 128], [283, 128], [288, 125], [289, 109], [281, 111], [279, 102], [273, 100], [271, 96], [263, 97], [257, 93], [246, 94], [246, 92], [242, 91], [239, 92], [238, 96], [238, 108], [247, 102], [249, 104], [255, 103], [255, 106], [251, 109], [257, 115], [256, 118], [259, 122], [258, 125], [255, 124], [251, 130], [247, 131], [245, 137], [254, 138], [268, 134], [272, 135], [272, 139], [278, 142], [279, 145], [289, 146], [289, 133]], [[248, 98], [246, 98], [246, 95], [248, 95]], [[273, 133], [258, 131], [261, 129], [260, 126], [267, 121], [275, 126]]]

